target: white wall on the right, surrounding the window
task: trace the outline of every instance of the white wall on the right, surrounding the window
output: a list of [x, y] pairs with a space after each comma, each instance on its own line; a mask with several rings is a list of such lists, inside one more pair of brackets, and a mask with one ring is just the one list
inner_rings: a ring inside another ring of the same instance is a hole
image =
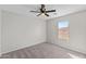
[[[70, 22], [70, 42], [59, 42], [58, 38], [52, 35], [52, 25], [59, 21]], [[48, 20], [47, 25], [48, 42], [86, 54], [86, 11]]]

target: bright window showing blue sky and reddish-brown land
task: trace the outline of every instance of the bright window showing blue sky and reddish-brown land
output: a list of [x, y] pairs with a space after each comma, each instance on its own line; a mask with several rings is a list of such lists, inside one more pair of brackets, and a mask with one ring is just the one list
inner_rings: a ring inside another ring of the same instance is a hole
[[69, 41], [70, 38], [70, 30], [69, 30], [69, 21], [61, 21], [58, 22], [58, 38], [60, 41]]

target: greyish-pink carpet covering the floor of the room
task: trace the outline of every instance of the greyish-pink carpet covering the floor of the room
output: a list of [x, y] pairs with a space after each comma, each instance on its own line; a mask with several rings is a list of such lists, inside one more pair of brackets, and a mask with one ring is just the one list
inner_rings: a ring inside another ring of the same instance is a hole
[[5, 53], [1, 59], [85, 59], [86, 55], [62, 49], [52, 43], [39, 43]]

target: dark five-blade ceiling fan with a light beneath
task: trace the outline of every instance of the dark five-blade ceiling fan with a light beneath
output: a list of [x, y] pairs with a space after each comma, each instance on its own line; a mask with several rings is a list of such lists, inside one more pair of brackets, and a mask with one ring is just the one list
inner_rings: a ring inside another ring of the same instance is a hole
[[30, 11], [30, 12], [35, 12], [35, 13], [39, 13], [37, 16], [41, 15], [41, 14], [45, 14], [46, 16], [49, 16], [48, 13], [51, 13], [51, 12], [56, 12], [56, 10], [46, 10], [45, 8], [45, 4], [41, 4], [41, 8], [39, 9], [39, 11]]

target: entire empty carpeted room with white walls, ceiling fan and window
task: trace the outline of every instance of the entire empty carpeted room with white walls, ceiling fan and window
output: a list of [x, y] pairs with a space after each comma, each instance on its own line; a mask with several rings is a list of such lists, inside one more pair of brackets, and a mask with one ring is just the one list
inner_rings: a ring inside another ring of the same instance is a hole
[[86, 59], [86, 4], [0, 4], [0, 59]]

